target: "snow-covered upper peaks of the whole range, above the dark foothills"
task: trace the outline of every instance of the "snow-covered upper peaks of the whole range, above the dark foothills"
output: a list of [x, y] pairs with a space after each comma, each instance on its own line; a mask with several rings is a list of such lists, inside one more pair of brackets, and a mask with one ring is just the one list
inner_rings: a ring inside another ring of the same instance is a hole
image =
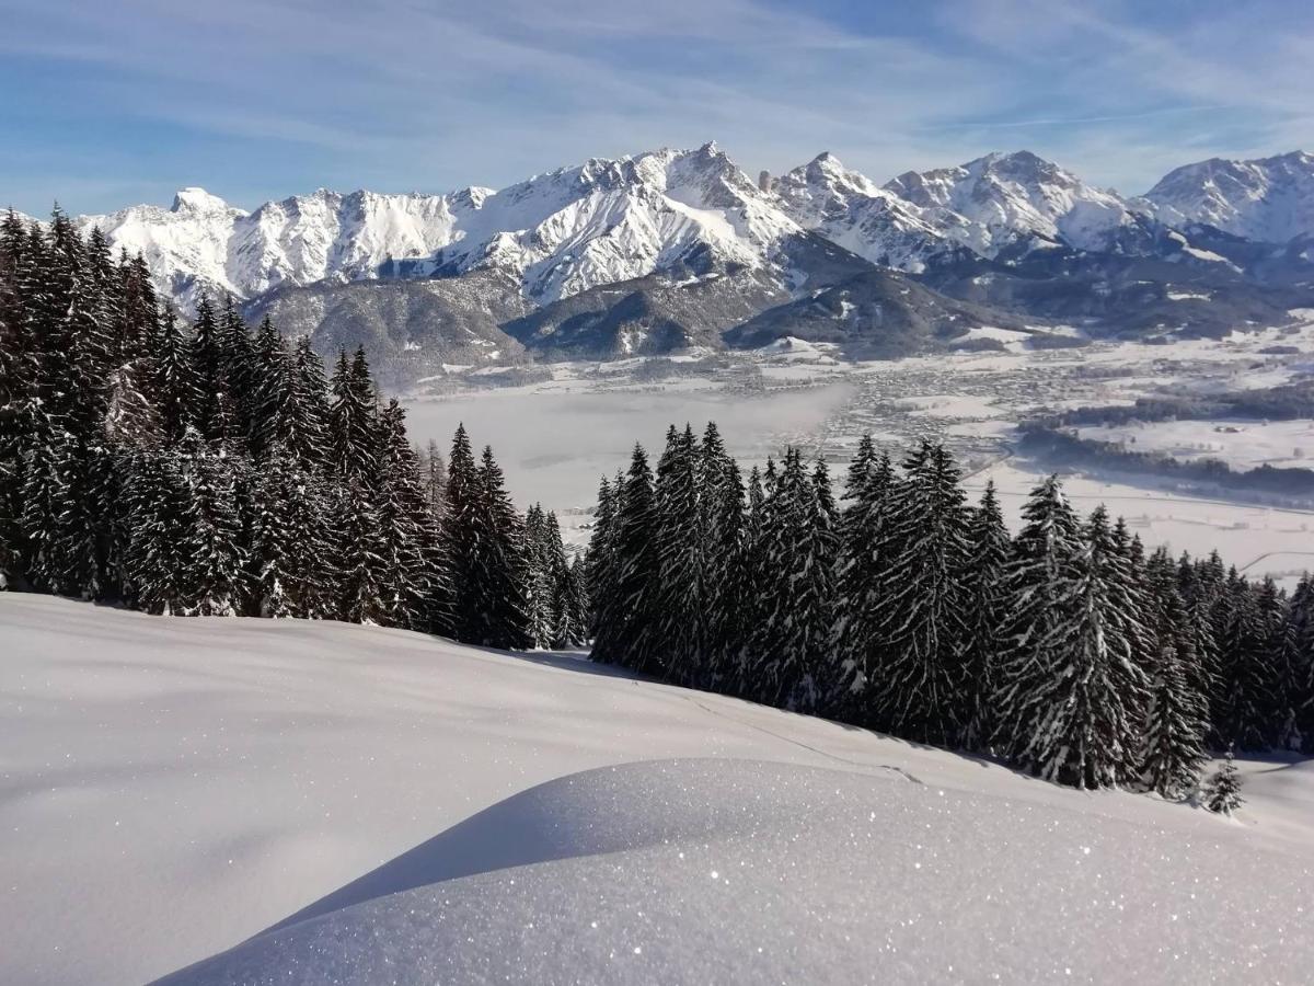
[[141, 251], [184, 309], [200, 292], [254, 300], [288, 287], [472, 270], [511, 275], [535, 305], [677, 268], [746, 267], [796, 291], [809, 276], [792, 256], [803, 233], [921, 272], [962, 248], [988, 259], [1054, 245], [1154, 252], [1162, 226], [1198, 223], [1282, 243], [1314, 233], [1314, 158], [1202, 162], [1127, 199], [1029, 151], [909, 171], [883, 187], [821, 154], [763, 187], [707, 143], [595, 158], [501, 191], [319, 189], [247, 213], [185, 188], [168, 209], [79, 218], [113, 246]]

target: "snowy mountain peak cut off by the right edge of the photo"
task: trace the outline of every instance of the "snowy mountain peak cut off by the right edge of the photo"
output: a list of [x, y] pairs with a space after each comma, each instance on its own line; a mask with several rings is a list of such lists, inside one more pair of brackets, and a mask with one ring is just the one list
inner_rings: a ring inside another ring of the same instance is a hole
[[1314, 155], [1210, 158], [1169, 171], [1146, 196], [1169, 225], [1202, 222], [1247, 239], [1314, 234]]

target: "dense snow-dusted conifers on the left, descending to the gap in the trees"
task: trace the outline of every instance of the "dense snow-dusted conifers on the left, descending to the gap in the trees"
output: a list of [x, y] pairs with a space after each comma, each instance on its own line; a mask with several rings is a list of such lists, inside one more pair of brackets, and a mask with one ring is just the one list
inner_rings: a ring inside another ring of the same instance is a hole
[[99, 230], [0, 223], [0, 586], [582, 644], [556, 518], [464, 427], [444, 463], [405, 419], [363, 350], [328, 373], [231, 300], [185, 326]]

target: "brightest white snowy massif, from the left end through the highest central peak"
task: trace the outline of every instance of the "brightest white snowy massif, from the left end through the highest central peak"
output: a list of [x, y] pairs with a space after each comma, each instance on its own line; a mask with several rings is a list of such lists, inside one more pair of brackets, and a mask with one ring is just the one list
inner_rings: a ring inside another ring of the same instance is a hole
[[116, 247], [142, 251], [162, 288], [255, 298], [271, 289], [386, 276], [515, 275], [536, 304], [677, 264], [775, 266], [802, 233], [715, 143], [591, 159], [502, 191], [350, 195], [319, 189], [252, 213], [202, 189], [168, 210], [80, 217]]

